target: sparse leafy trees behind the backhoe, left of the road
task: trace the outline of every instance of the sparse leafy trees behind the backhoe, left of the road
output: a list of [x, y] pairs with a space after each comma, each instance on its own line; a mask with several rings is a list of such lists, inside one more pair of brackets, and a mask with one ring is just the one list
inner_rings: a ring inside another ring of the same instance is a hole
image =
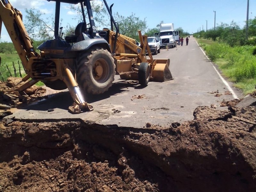
[[[73, 4], [69, 5], [69, 10], [76, 13], [73, 18], [76, 21], [74, 22], [76, 25], [83, 22], [82, 11], [80, 9], [81, 8], [79, 6], [75, 6]], [[84, 10], [86, 10], [85, 7]], [[29, 36], [34, 42], [54, 39], [54, 15], [46, 17], [45, 13], [35, 9], [26, 9], [25, 12], [26, 17], [24, 20], [24, 25]], [[92, 1], [92, 12], [96, 28], [98, 26], [98, 30], [100, 30], [100, 28], [102, 29], [103, 27], [110, 28], [109, 15], [103, 4], [97, 4]], [[160, 21], [155, 28], [148, 28], [146, 18], [141, 19], [137, 17], [135, 13], [125, 17], [119, 12], [116, 12], [113, 14], [113, 16], [115, 21], [118, 23], [120, 34], [136, 40], [139, 40], [138, 30], [141, 30], [142, 34], [147, 36], [154, 36], [154, 33], [159, 32], [160, 24], [163, 23], [163, 21]], [[88, 21], [87, 12], [85, 12], [85, 18]], [[73, 26], [69, 23], [65, 25], [66, 26], [63, 26], [63, 19], [60, 19], [60, 27], [63, 27], [63, 37], [73, 35], [76, 25]], [[184, 31], [182, 28], [178, 28], [177, 30], [179, 30], [183, 35]], [[4, 43], [1, 46], [6, 45], [7, 44]], [[6, 51], [9, 50], [10, 49]], [[3, 50], [0, 50], [0, 52], [2, 51]]]

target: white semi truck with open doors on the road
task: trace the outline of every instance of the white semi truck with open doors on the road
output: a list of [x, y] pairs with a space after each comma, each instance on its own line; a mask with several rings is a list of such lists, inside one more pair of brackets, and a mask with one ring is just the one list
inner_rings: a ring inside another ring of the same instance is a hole
[[174, 31], [173, 23], [163, 23], [160, 24], [160, 32], [155, 33], [154, 36], [159, 36], [161, 38], [160, 47], [176, 47], [179, 41], [179, 31]]

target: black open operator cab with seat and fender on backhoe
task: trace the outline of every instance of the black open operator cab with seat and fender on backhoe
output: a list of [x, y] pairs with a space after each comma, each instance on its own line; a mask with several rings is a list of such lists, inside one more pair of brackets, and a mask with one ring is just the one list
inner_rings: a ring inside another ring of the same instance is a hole
[[[40, 51], [45, 51], [45, 53], [49, 53], [50, 57], [58, 57], [60, 58], [60, 55], [55, 55], [56, 51], [53, 50], [61, 50], [62, 57], [72, 57], [73, 52], [80, 52], [80, 51], [86, 51], [90, 49], [92, 46], [100, 46], [105, 49], [107, 49], [109, 52], [110, 45], [109, 45], [109, 30], [100, 30], [97, 31], [92, 15], [92, 7], [91, 7], [91, 1], [92, 0], [47, 0], [47, 1], [54, 1], [56, 2], [55, 7], [55, 22], [54, 22], [54, 39], [48, 40], [44, 42], [43, 44], [38, 46], [38, 49]], [[110, 15], [110, 21], [111, 21], [111, 30], [113, 31], [113, 25], [116, 28], [116, 34], [119, 34], [119, 30], [117, 27], [117, 23], [114, 21], [114, 18], [112, 16], [111, 7], [110, 9], [108, 7], [108, 4], [106, 0], [103, 0], [108, 13]], [[78, 23], [76, 26], [74, 35], [66, 36], [65, 40], [63, 40], [62, 36], [62, 27], [59, 28], [60, 25], [60, 3], [68, 3], [68, 4], [78, 4], [80, 3], [80, 9], [82, 11], [82, 22]], [[85, 10], [84, 6], [86, 7], [87, 11], [87, 17], [85, 20]], [[115, 43], [113, 46], [113, 50], [115, 50], [115, 44], [117, 41], [117, 36], [115, 36]]]

